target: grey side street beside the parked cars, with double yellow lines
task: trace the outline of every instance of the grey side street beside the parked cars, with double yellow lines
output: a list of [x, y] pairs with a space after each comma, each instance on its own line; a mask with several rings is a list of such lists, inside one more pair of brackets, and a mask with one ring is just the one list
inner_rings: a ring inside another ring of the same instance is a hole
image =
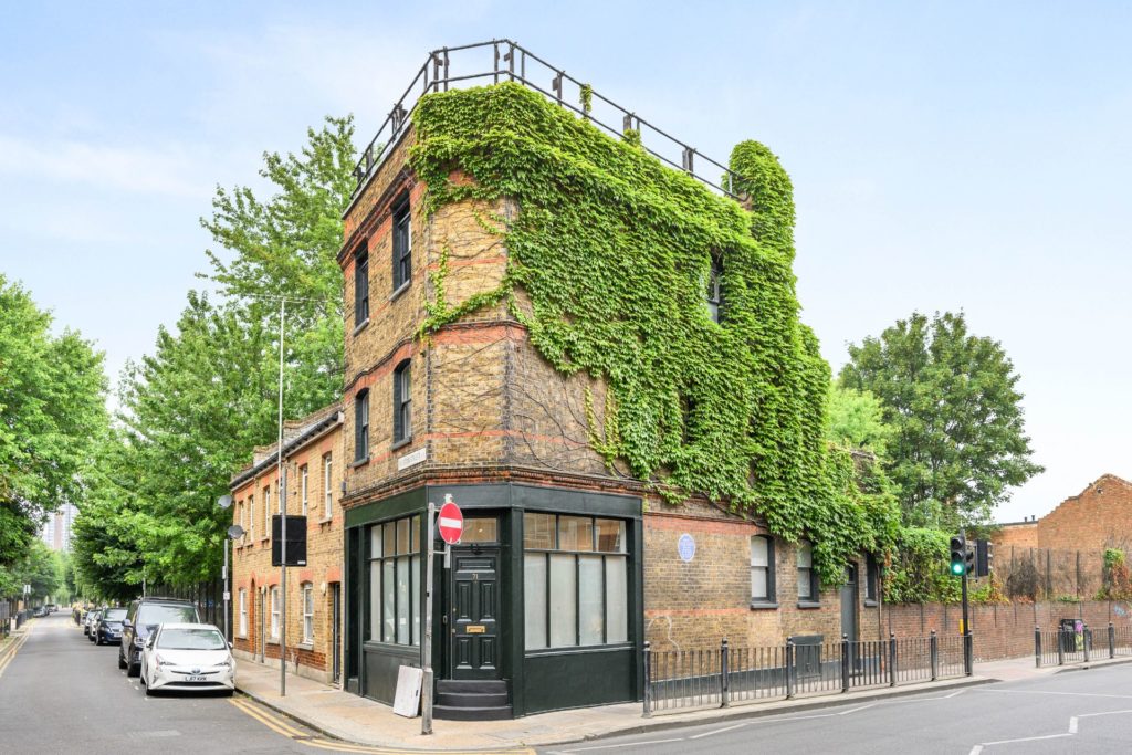
[[69, 612], [35, 619], [26, 642], [0, 668], [0, 753], [327, 749], [297, 739], [315, 735], [242, 696], [146, 697], [138, 680], [118, 669], [117, 653], [117, 645], [88, 642]]

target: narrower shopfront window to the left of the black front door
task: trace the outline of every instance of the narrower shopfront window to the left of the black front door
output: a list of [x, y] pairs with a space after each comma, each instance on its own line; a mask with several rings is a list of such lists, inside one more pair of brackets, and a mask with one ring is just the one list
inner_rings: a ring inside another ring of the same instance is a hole
[[369, 638], [420, 644], [420, 517], [370, 527]]

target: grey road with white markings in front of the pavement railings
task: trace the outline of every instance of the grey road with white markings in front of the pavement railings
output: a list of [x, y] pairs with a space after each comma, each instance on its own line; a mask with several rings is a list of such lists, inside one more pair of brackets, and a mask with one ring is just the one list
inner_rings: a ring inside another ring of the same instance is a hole
[[539, 748], [581, 755], [1132, 750], [1132, 664]]

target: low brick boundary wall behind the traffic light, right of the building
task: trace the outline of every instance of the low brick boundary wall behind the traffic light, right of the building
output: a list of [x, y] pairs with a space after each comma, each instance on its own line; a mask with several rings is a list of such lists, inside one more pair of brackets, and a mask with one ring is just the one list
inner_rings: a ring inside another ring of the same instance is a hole
[[[884, 623], [898, 637], [959, 634], [962, 608], [941, 603], [889, 604]], [[1112, 621], [1116, 627], [1132, 627], [1132, 604], [1126, 601], [1089, 600], [1079, 603], [1038, 602], [971, 606], [971, 632], [975, 634], [975, 660], [994, 661], [1034, 654], [1034, 628], [1056, 629], [1061, 619], [1081, 619], [1095, 636]]]

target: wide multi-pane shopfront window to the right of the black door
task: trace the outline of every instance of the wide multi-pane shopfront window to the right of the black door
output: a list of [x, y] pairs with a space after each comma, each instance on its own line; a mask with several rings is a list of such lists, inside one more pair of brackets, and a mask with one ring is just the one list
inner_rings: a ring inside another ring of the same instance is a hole
[[628, 640], [625, 522], [523, 515], [526, 649]]

